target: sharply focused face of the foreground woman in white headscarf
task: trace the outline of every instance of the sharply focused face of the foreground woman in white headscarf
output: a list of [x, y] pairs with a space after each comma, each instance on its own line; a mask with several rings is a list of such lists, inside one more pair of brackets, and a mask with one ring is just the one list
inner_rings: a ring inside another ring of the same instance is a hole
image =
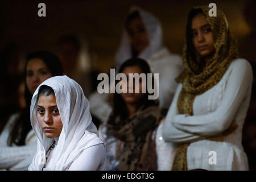
[[55, 96], [39, 96], [36, 117], [47, 138], [60, 136], [63, 125]]

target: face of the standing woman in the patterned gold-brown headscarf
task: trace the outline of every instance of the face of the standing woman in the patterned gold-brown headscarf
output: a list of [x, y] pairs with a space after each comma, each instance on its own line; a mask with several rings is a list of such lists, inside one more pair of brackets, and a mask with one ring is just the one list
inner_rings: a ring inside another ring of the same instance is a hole
[[197, 14], [191, 22], [192, 42], [201, 56], [207, 56], [214, 51], [212, 29], [205, 15]]

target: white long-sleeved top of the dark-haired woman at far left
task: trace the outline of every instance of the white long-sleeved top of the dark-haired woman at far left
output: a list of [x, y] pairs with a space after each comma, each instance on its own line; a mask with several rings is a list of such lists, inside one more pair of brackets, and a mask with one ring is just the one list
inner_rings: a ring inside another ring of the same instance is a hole
[[[36, 153], [36, 136], [31, 130], [26, 137], [24, 146], [8, 146], [7, 139], [19, 114], [11, 115], [0, 135], [0, 169], [27, 170]], [[29, 121], [28, 121], [29, 122]]]

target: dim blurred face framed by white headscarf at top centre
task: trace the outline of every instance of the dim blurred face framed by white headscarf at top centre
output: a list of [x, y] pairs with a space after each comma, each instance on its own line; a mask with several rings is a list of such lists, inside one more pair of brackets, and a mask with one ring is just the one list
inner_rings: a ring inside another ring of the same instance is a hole
[[134, 18], [130, 20], [127, 29], [133, 48], [138, 53], [141, 53], [149, 45], [147, 31], [142, 19]]

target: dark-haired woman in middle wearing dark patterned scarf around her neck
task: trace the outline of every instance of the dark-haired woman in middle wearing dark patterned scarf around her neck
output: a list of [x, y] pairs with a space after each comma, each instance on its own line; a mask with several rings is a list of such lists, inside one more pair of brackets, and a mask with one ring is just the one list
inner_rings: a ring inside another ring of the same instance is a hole
[[[151, 72], [146, 61], [133, 58], [125, 61], [118, 73], [128, 77], [130, 73]], [[147, 84], [148, 80], [141, 80], [138, 85], [133, 84], [133, 93], [114, 94], [113, 112], [99, 128], [106, 145], [108, 170], [158, 169], [155, 130], [164, 112], [158, 107], [158, 100], [148, 100], [148, 90], [142, 93]], [[139, 86], [139, 93], [134, 93], [135, 86]], [[129, 89], [132, 90], [127, 84], [127, 92]]]

